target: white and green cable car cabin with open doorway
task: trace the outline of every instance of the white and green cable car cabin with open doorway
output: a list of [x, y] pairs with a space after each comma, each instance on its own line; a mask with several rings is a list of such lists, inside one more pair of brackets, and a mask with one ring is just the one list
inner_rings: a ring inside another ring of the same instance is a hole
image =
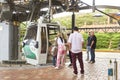
[[42, 19], [39, 19], [38, 23], [30, 22], [22, 48], [27, 63], [46, 64], [49, 47], [52, 44], [50, 40], [54, 39], [62, 29], [59, 23], [43, 23]]

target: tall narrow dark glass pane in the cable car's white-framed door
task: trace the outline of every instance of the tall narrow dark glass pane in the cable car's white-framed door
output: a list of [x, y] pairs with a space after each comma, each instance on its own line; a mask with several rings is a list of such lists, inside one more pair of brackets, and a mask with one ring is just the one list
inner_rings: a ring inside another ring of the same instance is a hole
[[47, 50], [47, 38], [45, 27], [41, 28], [41, 54], [45, 54]]

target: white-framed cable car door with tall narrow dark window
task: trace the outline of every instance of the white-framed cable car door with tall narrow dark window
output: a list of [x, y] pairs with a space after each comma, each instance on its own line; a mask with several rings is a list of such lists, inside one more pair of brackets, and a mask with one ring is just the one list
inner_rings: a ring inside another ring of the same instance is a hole
[[47, 62], [47, 53], [48, 53], [48, 34], [47, 34], [47, 25], [40, 24], [38, 25], [37, 31], [37, 41], [38, 41], [38, 63], [46, 64]]

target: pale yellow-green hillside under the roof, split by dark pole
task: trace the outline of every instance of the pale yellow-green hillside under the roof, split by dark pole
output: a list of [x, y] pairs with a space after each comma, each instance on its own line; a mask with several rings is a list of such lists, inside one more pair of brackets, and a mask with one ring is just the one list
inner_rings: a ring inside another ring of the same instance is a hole
[[[71, 28], [71, 16], [55, 18], [53, 21], [59, 21], [63, 26]], [[92, 25], [92, 24], [105, 24], [107, 23], [107, 16], [94, 17], [93, 13], [87, 14], [76, 14], [75, 15], [75, 25], [81, 27], [83, 25]]]

